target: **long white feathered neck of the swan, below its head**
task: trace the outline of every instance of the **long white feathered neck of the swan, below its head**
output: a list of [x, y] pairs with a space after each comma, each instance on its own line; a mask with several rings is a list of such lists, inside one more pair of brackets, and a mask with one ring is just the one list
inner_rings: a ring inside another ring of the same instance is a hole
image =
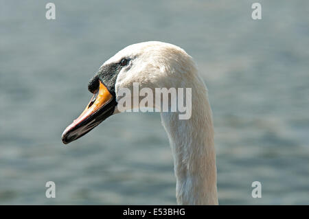
[[161, 113], [174, 157], [179, 205], [218, 205], [214, 127], [203, 87], [199, 92], [192, 89], [190, 119], [179, 119], [179, 113]]

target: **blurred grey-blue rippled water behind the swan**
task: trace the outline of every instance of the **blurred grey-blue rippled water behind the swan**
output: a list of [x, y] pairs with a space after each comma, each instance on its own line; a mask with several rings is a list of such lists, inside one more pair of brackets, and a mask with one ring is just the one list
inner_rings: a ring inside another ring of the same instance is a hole
[[260, 21], [255, 1], [54, 0], [54, 21], [47, 2], [0, 1], [1, 205], [176, 203], [158, 113], [60, 140], [100, 65], [153, 40], [183, 47], [207, 84], [220, 204], [309, 204], [309, 1], [259, 1]]

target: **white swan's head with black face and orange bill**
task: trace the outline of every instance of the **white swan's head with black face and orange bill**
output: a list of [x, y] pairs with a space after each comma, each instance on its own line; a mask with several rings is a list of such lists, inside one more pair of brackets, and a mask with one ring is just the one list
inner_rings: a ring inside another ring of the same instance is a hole
[[82, 137], [107, 117], [119, 113], [120, 93], [122, 89], [129, 89], [133, 98], [133, 83], [138, 83], [139, 89], [145, 87], [152, 91], [161, 87], [185, 87], [184, 83], [192, 80], [195, 72], [192, 57], [175, 45], [150, 41], [125, 47], [104, 62], [89, 81], [93, 97], [83, 113], [62, 133], [62, 142], [70, 143]]

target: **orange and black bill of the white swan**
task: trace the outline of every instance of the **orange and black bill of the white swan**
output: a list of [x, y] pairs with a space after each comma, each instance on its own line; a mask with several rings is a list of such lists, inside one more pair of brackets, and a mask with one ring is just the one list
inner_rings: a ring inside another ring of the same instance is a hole
[[93, 97], [82, 114], [62, 133], [63, 143], [70, 143], [86, 135], [113, 114], [117, 104], [115, 97], [100, 80], [99, 82], [99, 88], [93, 92]]

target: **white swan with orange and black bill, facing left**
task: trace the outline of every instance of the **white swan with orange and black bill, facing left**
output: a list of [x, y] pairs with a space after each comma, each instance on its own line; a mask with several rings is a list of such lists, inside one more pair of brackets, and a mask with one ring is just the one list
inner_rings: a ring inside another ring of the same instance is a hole
[[152, 90], [192, 88], [190, 119], [179, 119], [178, 111], [161, 113], [174, 159], [176, 202], [178, 205], [218, 205], [214, 126], [207, 87], [192, 57], [176, 45], [158, 41], [137, 43], [104, 62], [88, 85], [93, 98], [62, 133], [62, 142], [70, 143], [107, 117], [120, 113], [119, 91], [132, 90], [134, 82]]

